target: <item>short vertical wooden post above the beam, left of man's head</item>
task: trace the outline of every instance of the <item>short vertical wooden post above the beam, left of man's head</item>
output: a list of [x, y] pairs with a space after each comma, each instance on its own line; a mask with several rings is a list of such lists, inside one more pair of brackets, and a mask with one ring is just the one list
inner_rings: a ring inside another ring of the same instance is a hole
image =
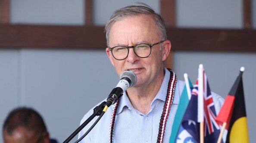
[[93, 25], [93, 0], [85, 0], [85, 25]]

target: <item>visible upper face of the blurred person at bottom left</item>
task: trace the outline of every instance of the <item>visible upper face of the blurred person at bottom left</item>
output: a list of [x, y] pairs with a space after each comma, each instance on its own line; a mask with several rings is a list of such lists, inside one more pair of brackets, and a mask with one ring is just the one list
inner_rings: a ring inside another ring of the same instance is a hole
[[3, 131], [4, 143], [49, 143], [50, 140], [45, 134], [38, 136], [34, 131], [28, 131], [27, 128], [18, 127], [12, 134], [8, 134], [6, 130]]

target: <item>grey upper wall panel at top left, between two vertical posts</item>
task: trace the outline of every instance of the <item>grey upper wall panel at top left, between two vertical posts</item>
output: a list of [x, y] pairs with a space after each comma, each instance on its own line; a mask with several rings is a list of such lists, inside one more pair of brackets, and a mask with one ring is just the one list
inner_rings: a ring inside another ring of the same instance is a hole
[[12, 24], [84, 24], [84, 0], [10, 0]]

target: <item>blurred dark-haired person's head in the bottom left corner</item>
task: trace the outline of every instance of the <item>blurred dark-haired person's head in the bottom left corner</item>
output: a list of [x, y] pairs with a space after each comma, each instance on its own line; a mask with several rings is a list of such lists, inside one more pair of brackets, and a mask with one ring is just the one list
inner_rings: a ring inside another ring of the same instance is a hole
[[4, 143], [57, 143], [50, 139], [43, 118], [28, 107], [12, 110], [3, 124]]

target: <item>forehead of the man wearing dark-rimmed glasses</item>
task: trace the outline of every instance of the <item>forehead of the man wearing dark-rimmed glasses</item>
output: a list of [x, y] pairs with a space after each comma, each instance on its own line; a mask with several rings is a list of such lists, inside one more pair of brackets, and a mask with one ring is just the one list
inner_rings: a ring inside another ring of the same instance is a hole
[[159, 32], [151, 15], [133, 15], [115, 21], [109, 32], [109, 44], [155, 42]]

